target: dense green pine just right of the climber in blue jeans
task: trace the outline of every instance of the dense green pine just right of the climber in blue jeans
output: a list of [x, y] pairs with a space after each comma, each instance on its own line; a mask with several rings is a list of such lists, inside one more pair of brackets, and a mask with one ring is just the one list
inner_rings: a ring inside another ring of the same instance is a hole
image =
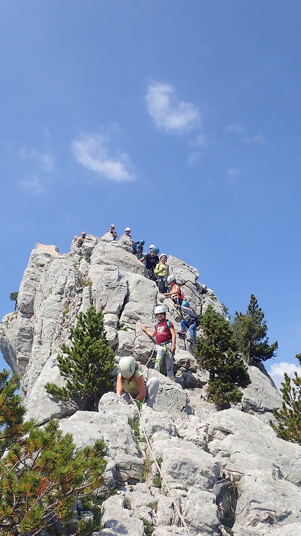
[[228, 319], [209, 306], [201, 321], [202, 336], [196, 340], [200, 367], [209, 371], [207, 394], [219, 410], [242, 399], [240, 387], [250, 383], [248, 371], [238, 356]]

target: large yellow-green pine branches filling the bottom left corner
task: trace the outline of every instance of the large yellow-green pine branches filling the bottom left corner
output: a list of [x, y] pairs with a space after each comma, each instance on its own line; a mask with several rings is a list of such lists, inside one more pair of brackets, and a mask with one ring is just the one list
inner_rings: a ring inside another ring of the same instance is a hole
[[102, 485], [105, 445], [98, 441], [75, 454], [59, 421], [44, 428], [24, 422], [16, 385], [16, 376], [0, 373], [0, 533], [53, 534], [58, 519], [65, 527], [74, 517], [76, 499]]

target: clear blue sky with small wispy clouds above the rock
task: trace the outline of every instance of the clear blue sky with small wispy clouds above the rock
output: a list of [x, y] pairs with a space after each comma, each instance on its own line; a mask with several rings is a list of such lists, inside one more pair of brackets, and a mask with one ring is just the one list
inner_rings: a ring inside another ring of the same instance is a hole
[[0, 316], [36, 242], [113, 222], [197, 266], [231, 314], [256, 295], [300, 345], [297, 1], [3, 0]]

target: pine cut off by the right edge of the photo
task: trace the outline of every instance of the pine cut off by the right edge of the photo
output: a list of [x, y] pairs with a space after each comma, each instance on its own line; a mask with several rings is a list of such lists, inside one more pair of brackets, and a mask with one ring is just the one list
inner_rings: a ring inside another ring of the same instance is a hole
[[[301, 354], [297, 354], [296, 359], [301, 365]], [[294, 378], [284, 373], [281, 385], [282, 408], [274, 409], [277, 423], [270, 421], [270, 424], [282, 439], [301, 445], [301, 377], [296, 372]]]

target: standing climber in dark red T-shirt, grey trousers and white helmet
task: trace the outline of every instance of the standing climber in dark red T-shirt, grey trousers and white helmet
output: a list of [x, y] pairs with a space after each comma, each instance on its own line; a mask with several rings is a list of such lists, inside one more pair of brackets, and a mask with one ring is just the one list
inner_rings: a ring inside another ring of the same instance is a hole
[[161, 361], [165, 356], [166, 372], [169, 379], [174, 381], [173, 358], [175, 352], [175, 330], [172, 322], [166, 320], [166, 309], [159, 305], [155, 308], [155, 316], [158, 322], [155, 324], [155, 329], [149, 331], [144, 325], [141, 326], [142, 331], [147, 333], [149, 337], [156, 336], [155, 351], [157, 357], [155, 360], [155, 370], [160, 372]]

